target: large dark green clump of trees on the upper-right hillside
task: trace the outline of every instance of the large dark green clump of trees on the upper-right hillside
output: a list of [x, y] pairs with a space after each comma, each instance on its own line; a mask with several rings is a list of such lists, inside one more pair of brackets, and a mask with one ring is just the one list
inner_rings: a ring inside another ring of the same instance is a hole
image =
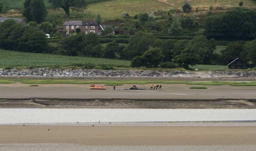
[[204, 22], [205, 35], [210, 37], [251, 38], [256, 31], [256, 11], [239, 8], [224, 14], [211, 15]]

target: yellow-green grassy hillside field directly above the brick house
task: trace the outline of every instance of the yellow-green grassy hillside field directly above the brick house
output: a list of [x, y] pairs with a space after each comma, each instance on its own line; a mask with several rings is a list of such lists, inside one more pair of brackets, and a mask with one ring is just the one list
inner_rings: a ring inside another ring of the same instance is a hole
[[170, 8], [173, 7], [157, 0], [112, 0], [106, 3], [89, 5], [85, 11], [93, 14], [100, 13], [102, 17], [116, 18], [121, 17], [122, 12], [135, 15], [140, 12], [152, 12]]

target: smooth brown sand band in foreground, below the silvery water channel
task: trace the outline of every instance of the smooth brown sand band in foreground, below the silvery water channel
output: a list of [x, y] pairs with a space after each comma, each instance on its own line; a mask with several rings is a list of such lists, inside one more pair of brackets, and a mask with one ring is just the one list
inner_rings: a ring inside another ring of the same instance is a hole
[[[49, 131], [47, 131], [50, 129]], [[256, 145], [256, 126], [22, 126], [1, 125], [1, 144], [85, 146]], [[4, 136], [4, 137], [3, 137]], [[0, 145], [1, 146], [1, 145]]]

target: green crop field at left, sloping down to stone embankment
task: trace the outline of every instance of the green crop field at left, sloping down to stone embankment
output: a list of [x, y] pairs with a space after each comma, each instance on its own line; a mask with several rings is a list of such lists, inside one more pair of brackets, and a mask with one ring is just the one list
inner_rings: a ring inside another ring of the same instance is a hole
[[22, 66], [72, 66], [72, 65], [88, 65], [94, 66], [107, 65], [112, 67], [129, 67], [131, 62], [126, 60], [111, 60], [102, 58], [89, 57], [71, 57], [62, 55], [13, 52], [0, 50], [0, 66], [1, 67], [22, 67]]

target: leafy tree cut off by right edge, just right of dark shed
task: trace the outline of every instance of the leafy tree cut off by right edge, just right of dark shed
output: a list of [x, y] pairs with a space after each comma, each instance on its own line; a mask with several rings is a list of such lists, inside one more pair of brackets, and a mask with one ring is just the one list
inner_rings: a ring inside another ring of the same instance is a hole
[[252, 61], [254, 65], [256, 65], [256, 39], [244, 44], [244, 51], [246, 59]]

